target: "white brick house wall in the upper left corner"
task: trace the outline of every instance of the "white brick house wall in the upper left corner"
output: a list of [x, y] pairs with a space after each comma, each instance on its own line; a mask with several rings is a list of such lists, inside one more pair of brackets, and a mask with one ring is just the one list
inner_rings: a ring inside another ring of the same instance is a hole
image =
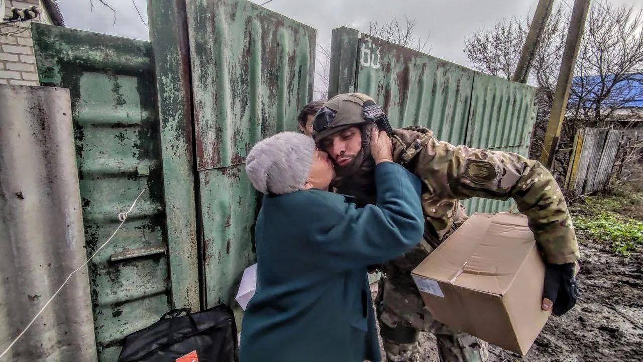
[[[5, 0], [6, 12], [10, 8], [39, 6], [43, 14], [33, 21], [51, 24], [46, 9], [40, 0]], [[33, 56], [31, 22], [0, 26], [0, 84], [39, 85], [36, 59]]]

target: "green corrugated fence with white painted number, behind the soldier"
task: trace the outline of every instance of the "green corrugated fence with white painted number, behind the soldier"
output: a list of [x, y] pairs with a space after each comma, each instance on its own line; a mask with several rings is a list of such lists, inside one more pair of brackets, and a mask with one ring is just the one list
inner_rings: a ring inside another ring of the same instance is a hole
[[[420, 125], [451, 144], [527, 156], [535, 88], [506, 81], [351, 28], [332, 32], [329, 96], [359, 91], [382, 104], [394, 128]], [[469, 213], [511, 202], [473, 198]]]

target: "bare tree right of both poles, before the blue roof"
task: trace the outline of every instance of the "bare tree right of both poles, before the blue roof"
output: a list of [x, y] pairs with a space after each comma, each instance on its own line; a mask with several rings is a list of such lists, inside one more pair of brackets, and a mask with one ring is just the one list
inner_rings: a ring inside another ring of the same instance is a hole
[[628, 104], [643, 99], [643, 17], [633, 6], [593, 8], [579, 50], [570, 100], [574, 118], [595, 127], [633, 117]]

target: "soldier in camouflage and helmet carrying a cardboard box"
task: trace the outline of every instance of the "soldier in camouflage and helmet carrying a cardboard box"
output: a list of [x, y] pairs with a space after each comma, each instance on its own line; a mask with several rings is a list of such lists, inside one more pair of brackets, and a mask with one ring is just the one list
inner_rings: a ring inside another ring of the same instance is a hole
[[418, 247], [385, 263], [379, 281], [377, 316], [388, 361], [418, 361], [420, 330], [437, 338], [440, 360], [487, 361], [487, 343], [450, 330], [431, 317], [410, 276], [414, 269], [467, 218], [460, 200], [473, 196], [513, 198], [546, 263], [543, 310], [557, 316], [577, 299], [574, 267], [578, 245], [563, 193], [539, 162], [515, 153], [453, 146], [426, 128], [391, 129], [381, 107], [367, 95], [349, 93], [326, 102], [314, 119], [313, 137], [336, 164], [332, 186], [352, 195], [358, 205], [374, 204], [374, 161], [370, 129], [385, 130], [394, 145], [394, 162], [422, 180], [424, 240]]

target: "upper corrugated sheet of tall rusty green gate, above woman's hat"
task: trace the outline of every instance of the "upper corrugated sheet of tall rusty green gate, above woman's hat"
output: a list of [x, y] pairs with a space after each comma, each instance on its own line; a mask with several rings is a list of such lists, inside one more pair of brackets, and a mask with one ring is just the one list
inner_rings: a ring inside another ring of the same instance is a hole
[[240, 164], [261, 138], [295, 129], [316, 31], [246, 0], [189, 1], [187, 15], [197, 168]]

